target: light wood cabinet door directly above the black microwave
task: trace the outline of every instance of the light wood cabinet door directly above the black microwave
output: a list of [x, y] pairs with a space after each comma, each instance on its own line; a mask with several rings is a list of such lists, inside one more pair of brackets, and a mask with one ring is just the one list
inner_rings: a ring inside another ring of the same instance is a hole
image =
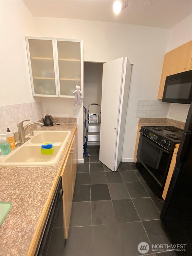
[[173, 51], [169, 75], [188, 71], [192, 56], [192, 41], [183, 44]]

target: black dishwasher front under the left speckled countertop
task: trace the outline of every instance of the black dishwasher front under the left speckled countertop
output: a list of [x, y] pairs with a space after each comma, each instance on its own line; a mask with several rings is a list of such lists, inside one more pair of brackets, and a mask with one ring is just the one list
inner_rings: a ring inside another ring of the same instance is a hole
[[57, 210], [60, 203], [62, 203], [62, 179], [59, 178], [46, 220], [41, 232], [41, 236], [38, 242], [37, 249], [35, 251], [35, 256], [46, 256], [47, 249], [49, 246], [50, 237], [52, 234], [53, 225], [55, 222], [55, 218], [57, 216]]

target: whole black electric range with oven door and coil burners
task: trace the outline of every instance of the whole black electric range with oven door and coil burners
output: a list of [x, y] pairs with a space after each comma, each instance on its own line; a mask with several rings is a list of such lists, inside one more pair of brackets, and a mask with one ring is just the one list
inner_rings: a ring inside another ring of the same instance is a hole
[[142, 126], [136, 166], [144, 180], [161, 197], [169, 171], [175, 144], [183, 131], [173, 126]]

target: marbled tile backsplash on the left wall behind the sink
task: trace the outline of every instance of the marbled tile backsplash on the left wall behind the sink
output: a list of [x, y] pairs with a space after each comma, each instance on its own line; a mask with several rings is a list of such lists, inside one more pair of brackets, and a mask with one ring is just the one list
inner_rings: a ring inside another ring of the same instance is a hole
[[30, 122], [36, 122], [44, 117], [41, 101], [1, 106], [1, 134], [5, 133], [7, 127], [16, 132], [17, 124], [22, 120], [30, 118], [30, 121], [24, 122], [24, 125]]

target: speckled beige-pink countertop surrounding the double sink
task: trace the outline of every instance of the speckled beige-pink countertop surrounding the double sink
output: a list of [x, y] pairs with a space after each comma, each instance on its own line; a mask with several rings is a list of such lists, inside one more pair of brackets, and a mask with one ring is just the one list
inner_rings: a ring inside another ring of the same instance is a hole
[[13, 206], [0, 227], [0, 255], [24, 256], [27, 254], [52, 185], [58, 178], [58, 171], [61, 169], [62, 160], [76, 126], [76, 124], [68, 123], [38, 129], [72, 132], [56, 165], [1, 167], [0, 200], [11, 202]]

